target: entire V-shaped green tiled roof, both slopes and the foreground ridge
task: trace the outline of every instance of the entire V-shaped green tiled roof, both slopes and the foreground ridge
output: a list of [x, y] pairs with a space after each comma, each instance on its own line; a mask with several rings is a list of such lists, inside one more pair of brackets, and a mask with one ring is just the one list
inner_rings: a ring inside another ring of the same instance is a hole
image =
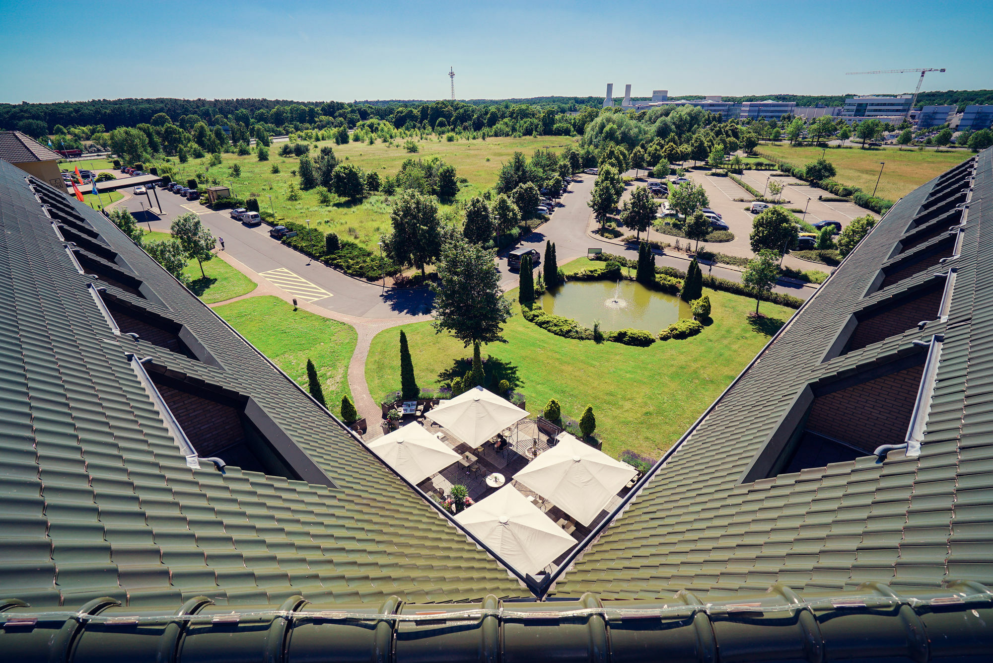
[[[873, 642], [879, 657], [982, 660], [991, 196], [987, 150], [898, 202], [563, 565], [551, 593], [573, 600], [527, 603], [112, 223], [0, 162], [0, 646], [60, 659], [126, 647], [136, 660], [640, 660], [676, 648], [687, 660], [835, 660]], [[96, 284], [82, 266], [108, 276]], [[832, 351], [853, 316], [952, 270], [945, 315]], [[897, 272], [909, 276], [883, 278]], [[115, 333], [93, 285], [184, 326], [211, 360]], [[808, 385], [930, 339], [940, 363], [925, 373], [920, 454], [746, 476]], [[327, 480], [191, 468], [142, 371], [250, 398]], [[467, 602], [437, 604], [448, 601]]]

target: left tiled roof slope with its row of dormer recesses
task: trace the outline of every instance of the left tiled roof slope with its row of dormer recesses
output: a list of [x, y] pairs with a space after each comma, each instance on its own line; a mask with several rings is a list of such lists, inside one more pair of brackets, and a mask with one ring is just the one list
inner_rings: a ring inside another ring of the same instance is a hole
[[[148, 296], [80, 274], [26, 180], [0, 162], [0, 594], [67, 607], [529, 596], [108, 219], [36, 184], [79, 235], [75, 260], [132, 274]], [[219, 367], [115, 334], [91, 283], [186, 326]], [[252, 398], [333, 485], [191, 469], [129, 353]]]

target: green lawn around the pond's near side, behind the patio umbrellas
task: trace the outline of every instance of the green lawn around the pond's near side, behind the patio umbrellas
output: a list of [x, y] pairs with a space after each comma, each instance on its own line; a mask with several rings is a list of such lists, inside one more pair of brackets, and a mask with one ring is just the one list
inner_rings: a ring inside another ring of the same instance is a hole
[[[617, 458], [632, 449], [657, 459], [793, 313], [764, 302], [761, 311], [771, 319], [753, 325], [748, 314], [755, 310], [755, 300], [710, 290], [705, 294], [713, 304], [713, 325], [699, 335], [655, 341], [649, 347], [556, 336], [521, 318], [514, 304], [514, 317], [504, 330], [508, 342], [489, 345], [484, 355], [517, 367], [523, 382], [518, 390], [532, 415], [540, 414], [550, 398], [559, 401], [563, 415], [576, 420], [592, 405], [596, 435], [605, 452]], [[516, 302], [516, 290], [508, 296]], [[401, 329], [407, 333], [422, 388], [437, 389], [439, 372], [455, 359], [472, 355], [460, 341], [435, 334], [430, 323], [380, 331], [365, 363], [373, 398], [399, 387]]]

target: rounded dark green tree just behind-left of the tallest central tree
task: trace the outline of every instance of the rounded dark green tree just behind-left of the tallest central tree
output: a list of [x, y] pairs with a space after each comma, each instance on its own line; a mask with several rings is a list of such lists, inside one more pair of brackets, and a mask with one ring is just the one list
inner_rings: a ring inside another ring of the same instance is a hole
[[437, 200], [405, 191], [394, 201], [390, 220], [393, 232], [383, 239], [386, 255], [396, 264], [417, 267], [426, 275], [425, 265], [433, 262], [441, 251]]

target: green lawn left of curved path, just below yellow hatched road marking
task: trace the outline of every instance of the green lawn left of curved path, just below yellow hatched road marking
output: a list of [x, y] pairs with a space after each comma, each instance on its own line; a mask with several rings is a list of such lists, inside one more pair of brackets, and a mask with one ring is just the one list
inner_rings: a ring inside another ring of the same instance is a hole
[[349, 360], [357, 338], [352, 326], [303, 309], [294, 311], [271, 295], [222, 304], [213, 311], [304, 389], [307, 359], [312, 359], [331, 411], [339, 411], [342, 396], [352, 397]]

